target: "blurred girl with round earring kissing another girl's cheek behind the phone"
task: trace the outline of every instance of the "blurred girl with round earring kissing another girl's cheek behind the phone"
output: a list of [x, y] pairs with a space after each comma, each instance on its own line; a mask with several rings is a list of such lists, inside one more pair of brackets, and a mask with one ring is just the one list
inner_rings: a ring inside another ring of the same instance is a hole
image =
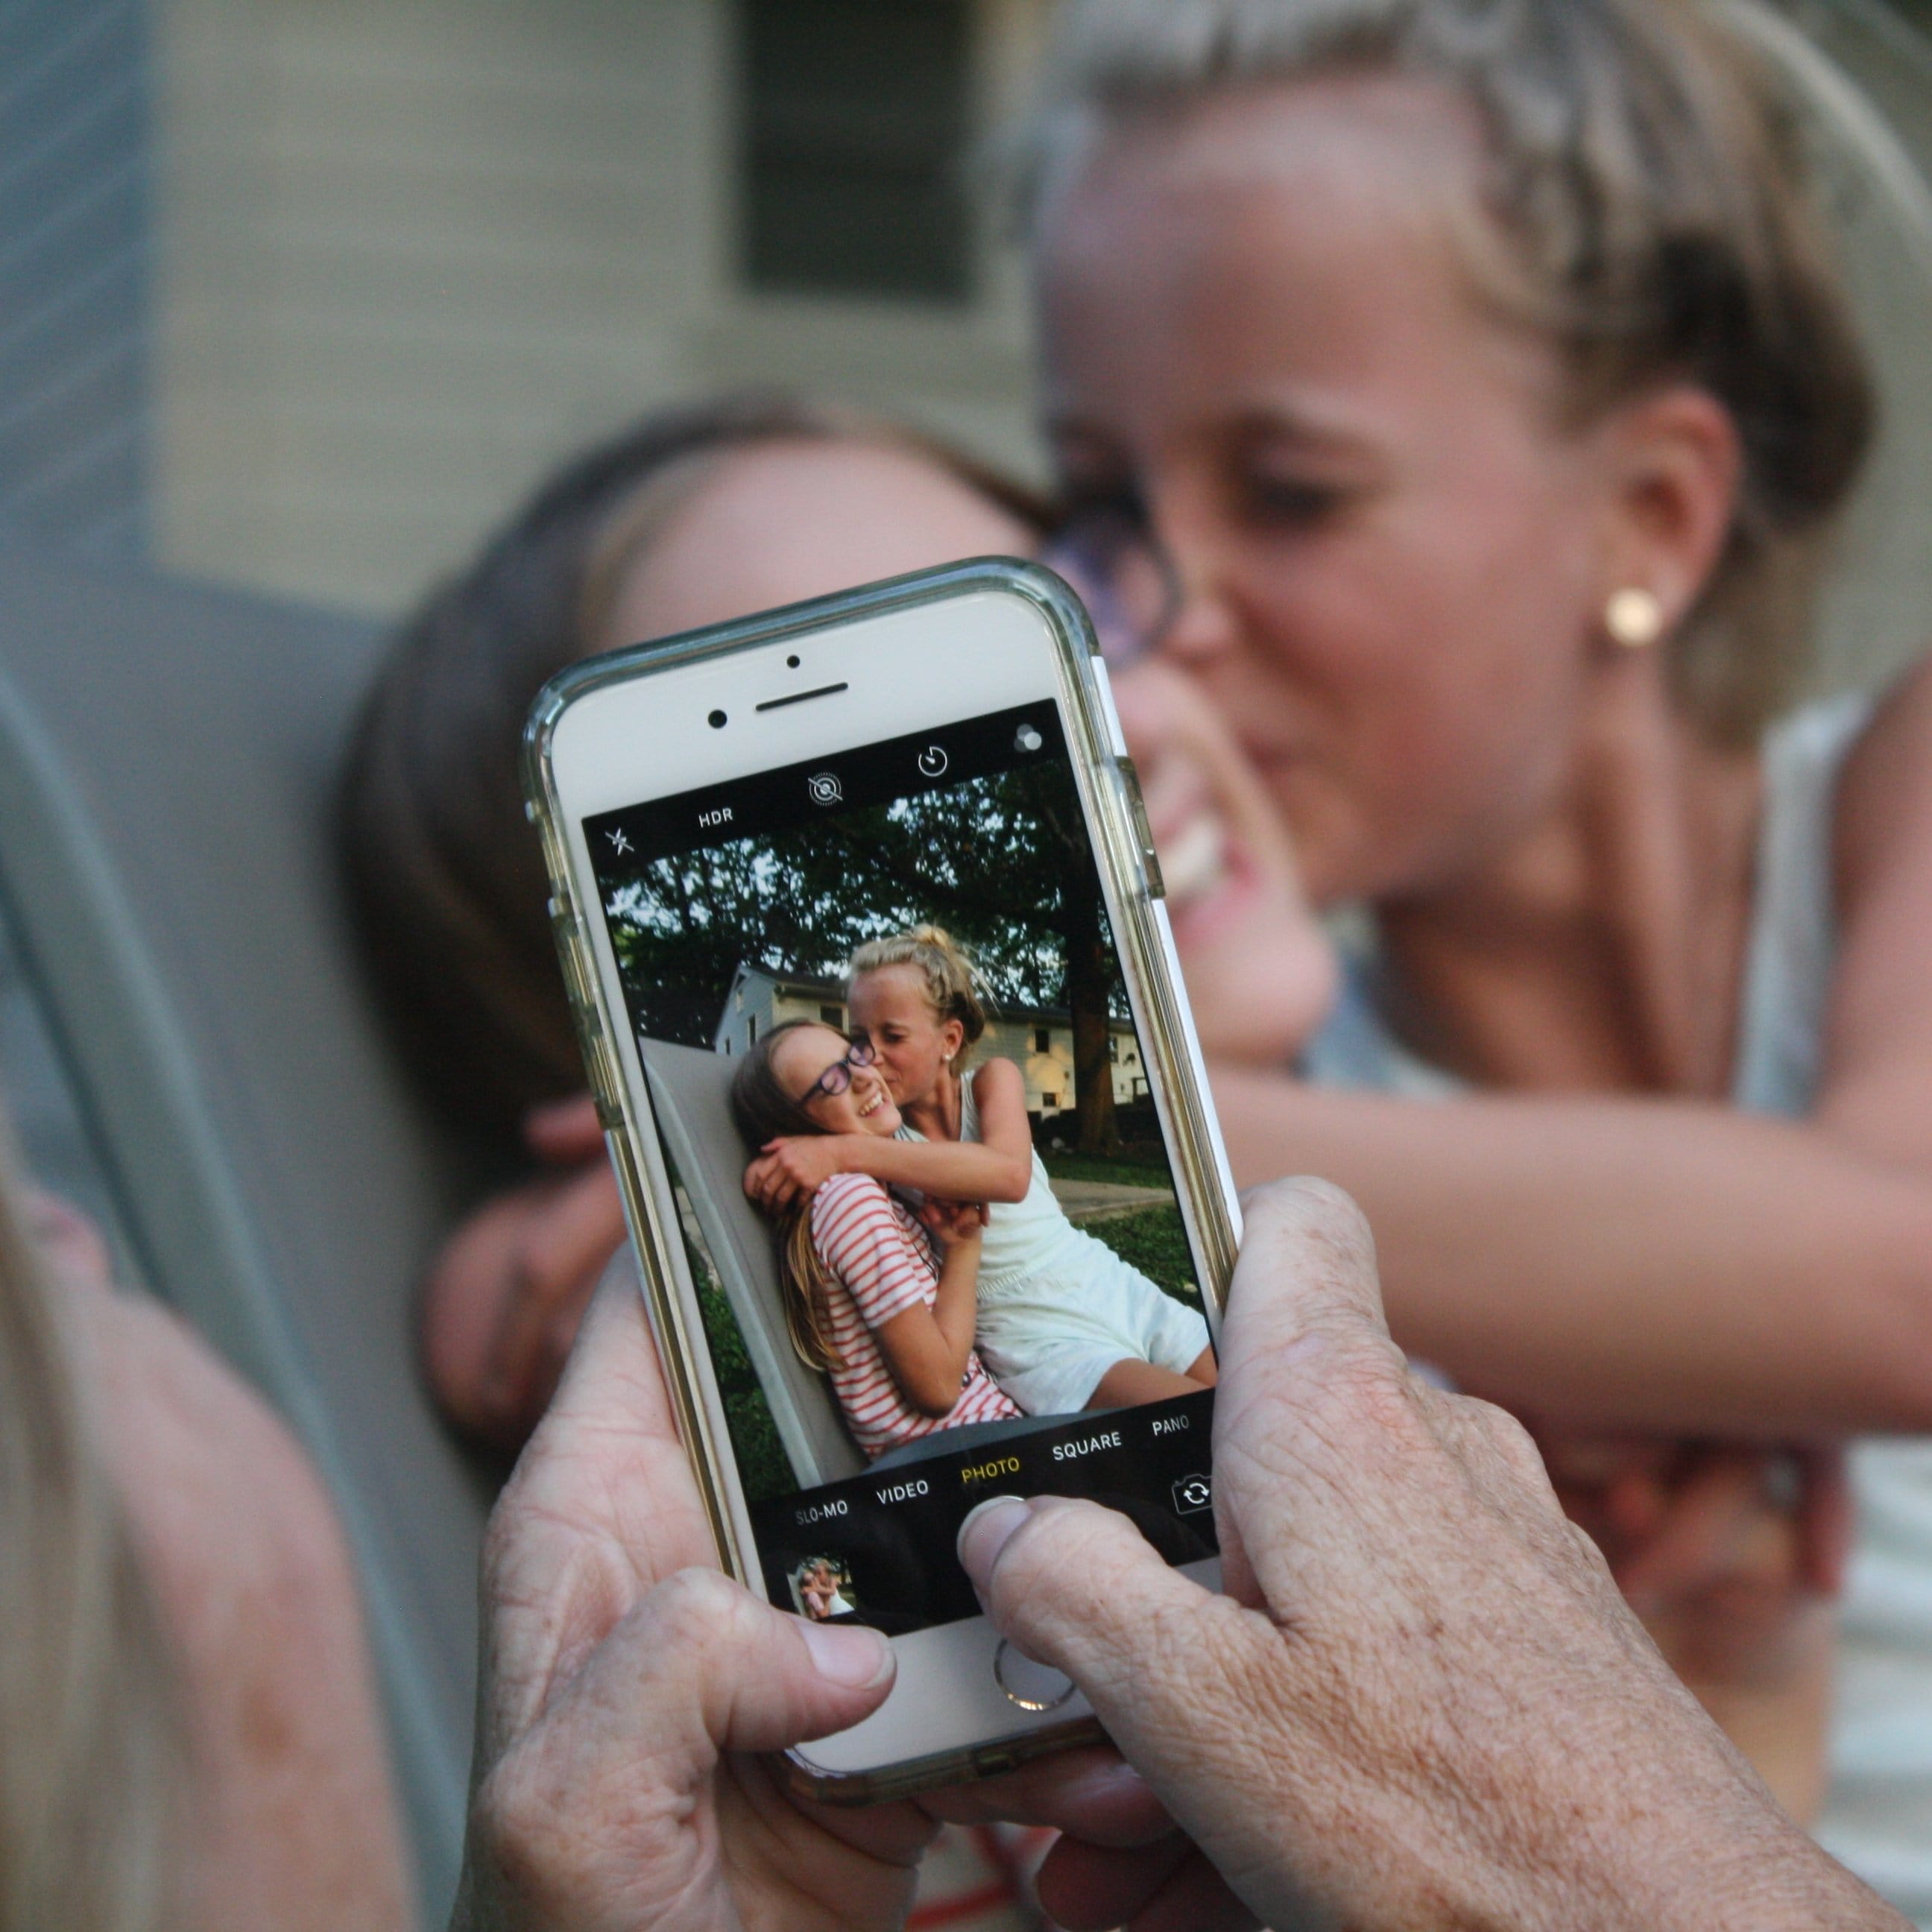
[[[1362, 1202], [1397, 1341], [1544, 1426], [1633, 1590], [1689, 1499], [1731, 1594], [1673, 1656], [1803, 1812], [1810, 1449], [1932, 1428], [1932, 678], [1789, 711], [1872, 429], [1789, 41], [1092, 0], [1032, 236], [1128, 736], [1186, 686], [1364, 931], [1298, 1072], [1219, 1070], [1236, 1175]], [[1932, 1461], [1859, 1480], [1832, 1843], [1932, 1915]]]

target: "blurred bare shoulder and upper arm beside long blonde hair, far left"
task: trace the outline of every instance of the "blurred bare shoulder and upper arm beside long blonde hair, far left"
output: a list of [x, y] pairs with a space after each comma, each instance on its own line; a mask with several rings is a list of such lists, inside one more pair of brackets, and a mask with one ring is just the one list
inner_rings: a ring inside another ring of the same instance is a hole
[[68, 1283], [83, 1385], [180, 1671], [195, 1924], [408, 1917], [355, 1573], [301, 1445], [184, 1321]]

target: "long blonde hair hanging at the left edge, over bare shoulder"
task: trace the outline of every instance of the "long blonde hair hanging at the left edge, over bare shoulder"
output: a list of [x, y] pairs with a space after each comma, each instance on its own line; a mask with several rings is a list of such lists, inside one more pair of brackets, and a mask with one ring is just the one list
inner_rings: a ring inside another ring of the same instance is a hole
[[176, 1922], [172, 1671], [0, 1122], [0, 1932]]

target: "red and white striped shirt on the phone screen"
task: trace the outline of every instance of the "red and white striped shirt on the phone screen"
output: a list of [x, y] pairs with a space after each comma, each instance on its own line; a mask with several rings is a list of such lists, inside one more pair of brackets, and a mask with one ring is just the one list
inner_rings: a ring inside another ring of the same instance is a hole
[[885, 1455], [933, 1430], [1020, 1412], [978, 1352], [966, 1356], [960, 1399], [943, 1416], [914, 1408], [893, 1379], [873, 1331], [908, 1308], [939, 1300], [939, 1258], [925, 1229], [881, 1182], [833, 1175], [811, 1196], [811, 1244], [835, 1275], [827, 1318], [844, 1366], [831, 1372], [833, 1389], [866, 1455]]

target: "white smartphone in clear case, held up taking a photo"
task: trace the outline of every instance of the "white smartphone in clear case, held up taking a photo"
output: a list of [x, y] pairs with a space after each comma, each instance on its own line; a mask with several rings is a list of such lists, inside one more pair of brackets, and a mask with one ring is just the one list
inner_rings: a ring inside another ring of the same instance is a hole
[[1217, 1580], [1238, 1208], [1086, 612], [989, 558], [591, 659], [526, 788], [719, 1563], [898, 1656], [794, 1777], [1092, 1735], [954, 1538], [1086, 1495]]

